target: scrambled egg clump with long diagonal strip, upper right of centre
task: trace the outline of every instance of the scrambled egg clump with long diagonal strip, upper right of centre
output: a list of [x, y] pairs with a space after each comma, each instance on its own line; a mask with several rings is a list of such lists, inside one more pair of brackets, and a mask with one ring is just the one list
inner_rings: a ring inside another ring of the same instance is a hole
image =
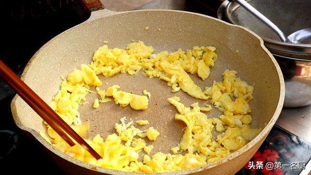
[[172, 92], [182, 89], [192, 97], [207, 100], [207, 96], [194, 84], [187, 72], [197, 73], [202, 80], [207, 79], [209, 67], [214, 66], [217, 60], [215, 50], [215, 47], [202, 46], [193, 47], [186, 53], [181, 49], [173, 53], [163, 51], [152, 54], [141, 66], [146, 69], [144, 75], [167, 81], [168, 86], [172, 87]]

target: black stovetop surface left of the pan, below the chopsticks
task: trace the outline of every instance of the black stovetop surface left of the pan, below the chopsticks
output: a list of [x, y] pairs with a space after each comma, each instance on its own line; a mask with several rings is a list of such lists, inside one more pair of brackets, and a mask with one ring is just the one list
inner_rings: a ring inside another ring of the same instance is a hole
[[[0, 167], [1, 172], [12, 175], [21, 171], [26, 174], [40, 175], [42, 170], [46, 174], [65, 175], [51, 158], [43, 151], [38, 141], [32, 140], [14, 123], [10, 103], [14, 94], [0, 100]], [[2, 174], [2, 173], [0, 173]]]

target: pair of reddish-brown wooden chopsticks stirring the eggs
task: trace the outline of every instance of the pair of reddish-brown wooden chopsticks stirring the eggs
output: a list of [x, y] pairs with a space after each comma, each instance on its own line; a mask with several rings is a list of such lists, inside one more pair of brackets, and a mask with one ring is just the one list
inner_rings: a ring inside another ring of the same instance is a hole
[[[86, 143], [53, 109], [47, 105], [31, 88], [0, 60], [0, 77], [48, 123], [54, 131], [61, 136], [70, 146], [75, 143], [69, 138], [76, 140], [96, 159], [102, 158], [89, 144]], [[68, 133], [68, 135], [66, 133]]]

